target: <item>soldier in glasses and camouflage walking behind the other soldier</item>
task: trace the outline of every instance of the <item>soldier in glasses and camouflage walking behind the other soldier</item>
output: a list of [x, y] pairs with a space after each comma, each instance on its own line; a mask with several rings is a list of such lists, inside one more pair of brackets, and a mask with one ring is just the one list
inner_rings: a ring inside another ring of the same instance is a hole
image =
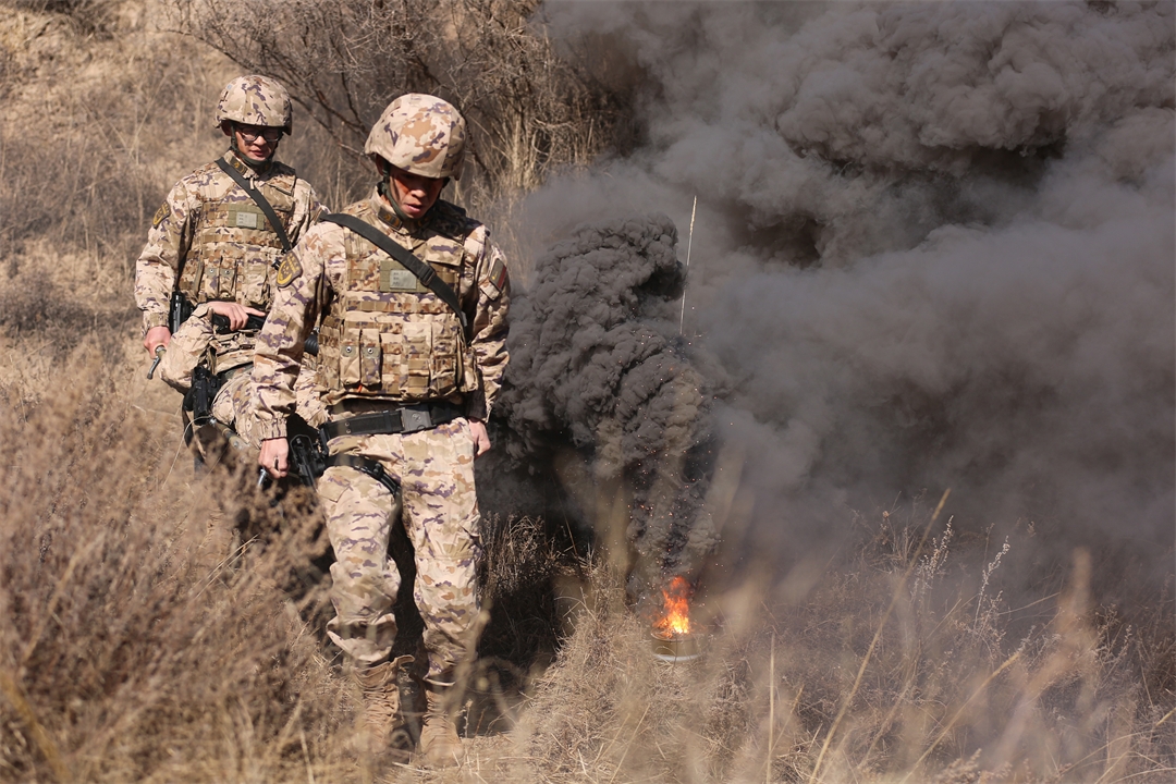
[[[290, 133], [290, 115], [286, 89], [266, 76], [234, 79], [216, 105], [216, 125], [230, 140], [221, 160], [260, 192], [294, 243], [323, 207], [310, 183], [274, 160], [282, 135]], [[196, 433], [198, 454], [206, 460], [214, 460], [211, 453], [223, 447], [225, 435], [234, 447], [258, 448], [248, 373], [258, 330], [242, 328], [249, 315], [265, 316], [269, 309], [282, 253], [280, 233], [265, 210], [220, 162], [213, 162], [172, 188], [136, 262], [143, 347], [152, 355], [167, 349], [161, 377], [187, 391], [195, 368], [203, 367], [222, 382], [212, 404], [214, 423]], [[173, 335], [168, 308], [175, 288], [195, 309]], [[228, 330], [213, 329], [214, 314], [227, 319]], [[323, 421], [314, 383], [313, 373], [299, 380], [305, 403], [299, 413], [308, 421]]]

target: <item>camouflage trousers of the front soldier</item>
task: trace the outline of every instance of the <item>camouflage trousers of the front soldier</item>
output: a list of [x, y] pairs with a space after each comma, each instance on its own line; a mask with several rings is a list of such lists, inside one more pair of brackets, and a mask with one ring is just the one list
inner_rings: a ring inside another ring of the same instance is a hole
[[319, 480], [335, 550], [335, 617], [327, 634], [361, 662], [380, 662], [392, 651], [392, 605], [401, 576], [388, 557], [388, 538], [392, 525], [402, 524], [416, 564], [413, 597], [425, 618], [426, 678], [450, 683], [454, 666], [473, 645], [479, 612], [474, 561], [481, 516], [469, 423], [457, 418], [409, 435], [340, 436], [329, 447], [332, 454], [379, 461], [401, 484], [402, 510], [385, 485], [354, 468], [328, 468]]

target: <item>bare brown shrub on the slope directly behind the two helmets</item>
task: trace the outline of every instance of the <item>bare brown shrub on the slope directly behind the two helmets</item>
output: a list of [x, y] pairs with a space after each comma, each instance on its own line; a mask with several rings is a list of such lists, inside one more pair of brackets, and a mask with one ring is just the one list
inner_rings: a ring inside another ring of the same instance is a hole
[[396, 95], [454, 102], [472, 132], [459, 197], [475, 212], [630, 141], [632, 98], [557, 52], [533, 0], [172, 2], [180, 31], [279, 79], [356, 158]]

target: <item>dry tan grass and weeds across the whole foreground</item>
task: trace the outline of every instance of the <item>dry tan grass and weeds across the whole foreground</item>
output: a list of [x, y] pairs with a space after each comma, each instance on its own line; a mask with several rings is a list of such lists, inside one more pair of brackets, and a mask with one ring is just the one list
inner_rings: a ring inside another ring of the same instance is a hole
[[[49, 374], [92, 387], [2, 389], [0, 437], [27, 447], [0, 465], [0, 779], [363, 780], [313, 505], [273, 508], [230, 473], [186, 483], [129, 370], [86, 346]], [[225, 520], [247, 537], [232, 558]], [[502, 614], [467, 674], [472, 780], [1168, 780], [1170, 631], [1100, 617], [1081, 552], [1060, 596], [1014, 611], [997, 558], [977, 590], [950, 525], [920, 550], [914, 522], [884, 518], [801, 602], [703, 597], [706, 655], [668, 664], [620, 576], [577, 572], [535, 521], [492, 521]]]

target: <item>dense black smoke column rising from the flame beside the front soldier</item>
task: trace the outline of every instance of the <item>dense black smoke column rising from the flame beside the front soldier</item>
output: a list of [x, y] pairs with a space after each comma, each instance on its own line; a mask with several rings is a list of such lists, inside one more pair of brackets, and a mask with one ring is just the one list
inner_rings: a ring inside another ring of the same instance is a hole
[[579, 488], [576, 517], [633, 549], [637, 592], [714, 545], [702, 508], [711, 391], [677, 334], [676, 243], [668, 217], [639, 215], [582, 226], [540, 257], [512, 304], [496, 409], [503, 451], [556, 470]]

